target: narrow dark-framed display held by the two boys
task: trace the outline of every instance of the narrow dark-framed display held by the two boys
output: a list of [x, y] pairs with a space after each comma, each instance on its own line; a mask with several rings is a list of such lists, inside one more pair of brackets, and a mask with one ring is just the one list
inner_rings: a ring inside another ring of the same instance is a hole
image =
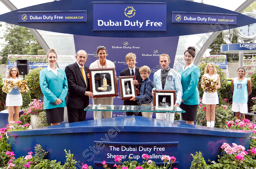
[[133, 85], [135, 76], [119, 76], [119, 88], [121, 100], [130, 100], [131, 96], [138, 96], [136, 92], [136, 86]]

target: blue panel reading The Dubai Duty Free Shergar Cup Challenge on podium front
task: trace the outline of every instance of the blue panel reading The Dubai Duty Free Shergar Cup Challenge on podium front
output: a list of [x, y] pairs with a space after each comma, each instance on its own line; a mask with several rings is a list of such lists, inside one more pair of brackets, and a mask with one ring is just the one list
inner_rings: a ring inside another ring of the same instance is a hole
[[[176, 134], [173, 134], [173, 137]], [[95, 147], [97, 147], [98, 143], [102, 141], [94, 141]], [[161, 158], [164, 155], [178, 157], [178, 144], [179, 142], [166, 142], [166, 143], [155, 143], [154, 145], [150, 144], [138, 144], [138, 143], [130, 143], [129, 145], [124, 145], [120, 143], [113, 142], [112, 144], [108, 144], [103, 142], [105, 145], [104, 151], [101, 153], [95, 154], [96, 164], [101, 164], [102, 161], [107, 161], [108, 164], [116, 164], [114, 161], [116, 155], [122, 157], [122, 159], [131, 158], [131, 161], [143, 161], [143, 155], [149, 155], [150, 160], [154, 161], [157, 165], [162, 165], [163, 161]], [[145, 160], [144, 160], [145, 161]], [[176, 160], [176, 163], [178, 159]]]

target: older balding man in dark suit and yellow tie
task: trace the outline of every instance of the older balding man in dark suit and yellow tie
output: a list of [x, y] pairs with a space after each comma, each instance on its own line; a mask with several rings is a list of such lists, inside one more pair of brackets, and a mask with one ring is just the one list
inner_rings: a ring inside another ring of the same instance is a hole
[[86, 60], [87, 53], [80, 50], [76, 53], [76, 62], [65, 68], [68, 80], [66, 105], [69, 123], [85, 120], [86, 111], [84, 111], [84, 108], [88, 106], [89, 98], [94, 96], [90, 92], [90, 83], [86, 78], [88, 73], [88, 67], [84, 65]]

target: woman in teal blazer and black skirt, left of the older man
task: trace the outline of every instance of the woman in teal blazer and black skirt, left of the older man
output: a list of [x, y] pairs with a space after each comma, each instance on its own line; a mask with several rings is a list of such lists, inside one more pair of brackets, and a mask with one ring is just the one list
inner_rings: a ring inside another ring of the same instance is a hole
[[44, 94], [43, 108], [46, 112], [46, 122], [58, 125], [64, 120], [65, 98], [68, 93], [68, 82], [63, 69], [55, 66], [57, 54], [54, 49], [47, 53], [48, 67], [40, 71], [40, 87]]

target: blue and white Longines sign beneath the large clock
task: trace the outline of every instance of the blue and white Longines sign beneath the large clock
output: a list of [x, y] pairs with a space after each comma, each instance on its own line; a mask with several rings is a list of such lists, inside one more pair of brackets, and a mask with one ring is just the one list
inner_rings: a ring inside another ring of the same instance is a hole
[[256, 52], [256, 43], [233, 43], [220, 46], [221, 53], [238, 53], [239, 51], [254, 53]]

